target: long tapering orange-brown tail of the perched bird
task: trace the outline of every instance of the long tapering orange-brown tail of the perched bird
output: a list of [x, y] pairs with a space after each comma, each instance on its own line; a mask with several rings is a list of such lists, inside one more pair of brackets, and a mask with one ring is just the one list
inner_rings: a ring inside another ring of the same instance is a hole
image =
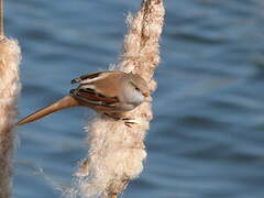
[[72, 107], [76, 107], [79, 106], [79, 102], [74, 99], [72, 96], [66, 96], [64, 98], [62, 98], [61, 100], [44, 107], [43, 109], [40, 109], [38, 111], [25, 117], [24, 119], [20, 120], [16, 125], [22, 125], [25, 123], [30, 123], [30, 122], [34, 122], [47, 114], [51, 114], [53, 112], [59, 111], [62, 109], [67, 109], [67, 108], [72, 108]]

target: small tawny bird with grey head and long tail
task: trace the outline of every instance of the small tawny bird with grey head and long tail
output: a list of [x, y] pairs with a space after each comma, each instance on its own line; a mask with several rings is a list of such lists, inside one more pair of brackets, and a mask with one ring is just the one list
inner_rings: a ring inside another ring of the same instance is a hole
[[146, 81], [140, 75], [132, 73], [118, 70], [91, 73], [73, 79], [72, 84], [79, 85], [72, 89], [68, 96], [25, 117], [16, 125], [77, 106], [88, 107], [99, 113], [119, 119], [113, 114], [136, 108], [150, 96]]

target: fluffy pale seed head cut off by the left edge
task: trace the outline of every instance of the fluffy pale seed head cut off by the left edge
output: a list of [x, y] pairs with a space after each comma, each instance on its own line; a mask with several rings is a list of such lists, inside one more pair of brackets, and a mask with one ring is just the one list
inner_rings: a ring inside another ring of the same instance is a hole
[[13, 127], [20, 90], [19, 63], [16, 41], [0, 41], [0, 198], [11, 197]]

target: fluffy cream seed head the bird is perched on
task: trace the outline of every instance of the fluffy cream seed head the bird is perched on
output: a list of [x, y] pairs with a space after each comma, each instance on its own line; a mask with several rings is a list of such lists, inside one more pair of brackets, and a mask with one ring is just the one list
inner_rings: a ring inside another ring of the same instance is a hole
[[[160, 63], [158, 41], [164, 13], [163, 0], [144, 0], [136, 15], [128, 16], [123, 53], [114, 68], [140, 74], [151, 91], [156, 88], [153, 73]], [[125, 127], [123, 121], [100, 116], [89, 122], [87, 144], [90, 151], [76, 173], [80, 197], [118, 197], [128, 183], [140, 175], [146, 157], [144, 138], [152, 120], [151, 100], [150, 97], [147, 102], [124, 116], [139, 122], [132, 128]]]

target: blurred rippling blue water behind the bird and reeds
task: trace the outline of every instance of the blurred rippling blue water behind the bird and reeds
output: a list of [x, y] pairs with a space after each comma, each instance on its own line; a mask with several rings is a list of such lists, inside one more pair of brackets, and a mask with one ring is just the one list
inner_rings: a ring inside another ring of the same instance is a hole
[[[22, 116], [65, 96], [70, 79], [117, 63], [140, 0], [6, 1], [19, 40]], [[124, 198], [264, 197], [264, 1], [168, 0], [154, 120], [141, 177]], [[57, 198], [86, 154], [91, 111], [18, 129], [14, 197]]]

